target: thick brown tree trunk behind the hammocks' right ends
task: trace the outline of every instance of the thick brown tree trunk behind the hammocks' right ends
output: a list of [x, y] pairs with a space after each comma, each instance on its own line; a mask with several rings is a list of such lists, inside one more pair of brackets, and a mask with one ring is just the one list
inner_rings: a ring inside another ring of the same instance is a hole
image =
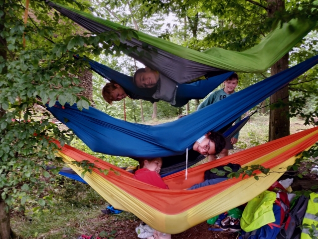
[[[285, 9], [285, 0], [268, 0], [267, 1], [268, 16], [272, 17], [276, 11], [282, 11]], [[284, 55], [271, 67], [271, 75], [275, 75], [289, 67], [289, 53]], [[270, 97], [270, 104], [277, 102], [279, 99], [284, 103], [289, 102], [289, 90], [288, 86], [279, 90]], [[289, 106], [284, 106], [279, 109], [270, 110], [270, 123], [269, 123], [269, 141], [282, 138], [290, 135], [290, 119], [287, 116], [289, 112]]]

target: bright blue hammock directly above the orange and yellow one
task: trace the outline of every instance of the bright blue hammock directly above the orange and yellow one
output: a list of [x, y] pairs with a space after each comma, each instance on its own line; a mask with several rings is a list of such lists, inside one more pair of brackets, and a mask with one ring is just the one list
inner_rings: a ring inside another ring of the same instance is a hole
[[[113, 118], [92, 107], [57, 102], [48, 110], [94, 152], [128, 157], [180, 155], [208, 131], [218, 131], [318, 63], [312, 57], [234, 95], [173, 122], [143, 125]], [[67, 120], [65, 120], [67, 119]]]

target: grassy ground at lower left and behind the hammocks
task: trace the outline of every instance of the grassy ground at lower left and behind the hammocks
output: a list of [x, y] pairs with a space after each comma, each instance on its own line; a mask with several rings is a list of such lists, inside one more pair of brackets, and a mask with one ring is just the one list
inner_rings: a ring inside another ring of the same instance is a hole
[[[268, 121], [268, 116], [254, 115], [240, 131], [239, 142], [230, 153], [267, 142]], [[157, 120], [148, 124], [154, 125], [163, 122], [167, 121]], [[292, 134], [308, 128], [310, 126], [303, 125], [302, 120], [291, 119]], [[74, 187], [75, 183], [68, 182], [65, 187], [58, 191], [59, 194], [56, 195], [58, 203], [53, 206], [51, 211], [41, 214], [29, 211], [25, 216], [13, 214], [12, 229], [27, 239], [76, 239], [80, 234], [98, 236], [101, 231], [121, 230], [125, 226], [118, 222], [129, 223], [138, 220], [133, 214], [126, 212], [116, 216], [105, 216], [100, 210], [105, 209], [106, 202], [89, 186], [82, 188], [83, 190], [80, 192], [76, 190], [77, 197], [75, 197], [71, 195], [71, 193], [74, 194], [74, 189], [67, 185]], [[29, 221], [29, 218], [32, 218], [32, 221]]]

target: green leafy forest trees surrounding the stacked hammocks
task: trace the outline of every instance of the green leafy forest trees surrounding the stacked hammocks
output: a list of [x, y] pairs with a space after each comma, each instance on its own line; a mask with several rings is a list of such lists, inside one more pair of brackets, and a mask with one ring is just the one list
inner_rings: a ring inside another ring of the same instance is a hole
[[[313, 0], [58, 2], [199, 51], [210, 47], [242, 51], [259, 43], [279, 22], [294, 17], [314, 21], [318, 18], [317, 2]], [[44, 1], [32, 0], [26, 6], [23, 0], [0, 0], [0, 17], [0, 217], [5, 219], [0, 222], [0, 239], [7, 239], [14, 237], [9, 224], [12, 210], [25, 212], [33, 208], [34, 212], [43, 212], [56, 203], [54, 191], [47, 190], [50, 182], [54, 183], [54, 176], [45, 167], [49, 162], [61, 164], [54, 156], [56, 146], [49, 144], [49, 137], [62, 144], [74, 138], [70, 130], [51, 123], [52, 116], [36, 106], [47, 101], [52, 106], [56, 99], [77, 103], [79, 108], [92, 103], [114, 117], [124, 118], [124, 101], [112, 106], [105, 103], [100, 93], [105, 79], [91, 74], [85, 62], [74, 61], [73, 53], [128, 75], [141, 65], [124, 56], [123, 45], [113, 45], [118, 36], [112, 32], [91, 35]], [[317, 55], [316, 30], [267, 72], [240, 73], [237, 89]], [[262, 110], [270, 112], [268, 140], [290, 133], [290, 117], [299, 116], [305, 124], [317, 124], [317, 79], [314, 67], [263, 103], [271, 104], [271, 108]], [[143, 122], [175, 119], [194, 112], [198, 103], [192, 100], [188, 106], [174, 108], [162, 101], [152, 105], [127, 98], [125, 107], [128, 121]], [[271, 134], [275, 127], [282, 134]], [[307, 158], [317, 156], [315, 152], [310, 151]]]

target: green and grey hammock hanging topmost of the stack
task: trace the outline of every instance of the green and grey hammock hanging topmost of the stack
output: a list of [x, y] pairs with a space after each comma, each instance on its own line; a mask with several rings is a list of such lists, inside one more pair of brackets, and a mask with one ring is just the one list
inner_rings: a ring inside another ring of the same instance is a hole
[[[92, 32], [129, 28], [59, 3], [48, 4]], [[289, 52], [316, 24], [317, 22], [309, 20], [292, 19], [270, 32], [258, 45], [242, 52], [221, 48], [199, 52], [140, 31], [137, 32], [139, 40], [132, 38], [124, 43], [140, 49], [145, 43], [150, 48], [156, 48], [158, 52], [150, 51], [149, 57], [144, 55], [141, 58], [134, 53], [130, 56], [166, 77], [184, 83], [207, 73], [212, 72], [213, 75], [213, 71], [214, 75], [220, 74], [221, 71], [264, 72]]]

